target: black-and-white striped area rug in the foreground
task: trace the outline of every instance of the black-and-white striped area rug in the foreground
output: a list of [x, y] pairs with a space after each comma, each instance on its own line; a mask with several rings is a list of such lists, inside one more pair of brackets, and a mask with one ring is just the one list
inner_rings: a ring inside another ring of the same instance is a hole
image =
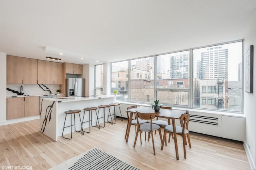
[[93, 148], [54, 166], [50, 170], [139, 170], [126, 162]]

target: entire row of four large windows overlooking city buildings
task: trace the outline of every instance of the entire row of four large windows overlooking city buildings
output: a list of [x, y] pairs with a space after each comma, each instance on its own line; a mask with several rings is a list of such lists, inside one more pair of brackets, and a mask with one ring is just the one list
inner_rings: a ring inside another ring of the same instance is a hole
[[237, 41], [111, 63], [111, 91], [128, 102], [242, 112], [242, 51]]

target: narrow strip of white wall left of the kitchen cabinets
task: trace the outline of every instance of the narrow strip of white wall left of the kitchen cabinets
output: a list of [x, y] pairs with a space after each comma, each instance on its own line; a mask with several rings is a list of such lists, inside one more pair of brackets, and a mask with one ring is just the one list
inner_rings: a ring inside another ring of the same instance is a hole
[[6, 122], [6, 53], [0, 52], [0, 125]]

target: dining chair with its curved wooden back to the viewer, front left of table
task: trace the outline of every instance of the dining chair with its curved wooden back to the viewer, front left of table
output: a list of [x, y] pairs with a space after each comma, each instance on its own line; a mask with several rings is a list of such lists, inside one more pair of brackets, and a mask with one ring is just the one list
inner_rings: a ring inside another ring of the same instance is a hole
[[[160, 141], [162, 143], [162, 134], [161, 134], [160, 126], [152, 123], [152, 119], [154, 119], [155, 117], [156, 117], [155, 113], [141, 113], [141, 112], [136, 111], [136, 120], [137, 120], [138, 128], [137, 128], [137, 131], [136, 131], [136, 137], [135, 137], [134, 145], [133, 145], [133, 147], [135, 147], [136, 142], [137, 142], [138, 133], [140, 133], [140, 132], [148, 132], [148, 141], [149, 141], [149, 134], [151, 134], [151, 137], [152, 137], [152, 144], [153, 144], [154, 155], [156, 155], [156, 152], [155, 152], [153, 131], [156, 131], [156, 130], [159, 131]], [[150, 123], [140, 124], [139, 123], [139, 118], [140, 119], [144, 119], [144, 120], [150, 120]], [[146, 141], [146, 137], [145, 137], [145, 141]], [[140, 133], [140, 144], [142, 145], [141, 133]]]

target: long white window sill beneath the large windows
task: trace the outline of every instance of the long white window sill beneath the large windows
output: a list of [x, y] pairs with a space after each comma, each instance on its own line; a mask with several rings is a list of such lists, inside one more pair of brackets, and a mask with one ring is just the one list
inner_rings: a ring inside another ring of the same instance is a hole
[[[151, 104], [140, 104], [140, 103], [132, 103], [132, 102], [124, 102], [124, 101], [116, 101], [120, 104], [128, 104], [128, 105], [137, 105], [137, 106], [148, 106], [150, 107]], [[207, 109], [195, 109], [195, 108], [185, 108], [185, 107], [173, 107], [172, 109], [175, 110], [189, 110], [190, 112], [197, 112], [197, 113], [210, 113], [210, 114], [216, 114], [216, 115], [224, 115], [224, 116], [230, 116], [230, 117], [242, 117], [245, 118], [245, 115], [243, 113], [230, 113], [225, 111], [213, 111], [213, 110], [207, 110]]]

